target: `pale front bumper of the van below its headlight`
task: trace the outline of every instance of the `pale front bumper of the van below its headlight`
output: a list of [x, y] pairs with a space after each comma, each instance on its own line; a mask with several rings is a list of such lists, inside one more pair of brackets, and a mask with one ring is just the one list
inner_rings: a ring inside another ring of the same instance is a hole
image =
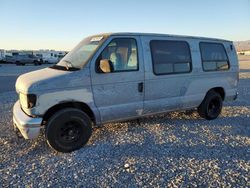
[[13, 107], [13, 123], [25, 139], [34, 139], [40, 133], [42, 118], [32, 118], [26, 115], [17, 101]]

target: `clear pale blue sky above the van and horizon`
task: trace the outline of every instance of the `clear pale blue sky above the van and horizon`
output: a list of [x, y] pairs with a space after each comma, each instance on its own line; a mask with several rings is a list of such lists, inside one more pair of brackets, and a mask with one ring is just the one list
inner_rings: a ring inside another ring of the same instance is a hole
[[0, 0], [0, 49], [70, 50], [102, 32], [250, 39], [250, 0]]

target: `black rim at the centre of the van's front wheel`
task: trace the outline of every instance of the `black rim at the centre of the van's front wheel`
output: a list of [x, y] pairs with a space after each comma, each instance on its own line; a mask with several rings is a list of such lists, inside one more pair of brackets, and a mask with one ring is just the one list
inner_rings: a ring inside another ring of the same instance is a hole
[[81, 124], [77, 121], [65, 122], [59, 130], [59, 140], [62, 143], [77, 142], [80, 138]]

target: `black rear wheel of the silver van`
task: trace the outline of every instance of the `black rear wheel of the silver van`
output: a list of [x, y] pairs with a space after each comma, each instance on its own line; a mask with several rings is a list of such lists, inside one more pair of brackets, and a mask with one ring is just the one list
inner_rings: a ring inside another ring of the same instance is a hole
[[209, 91], [198, 107], [199, 115], [207, 120], [216, 119], [221, 113], [222, 102], [219, 93], [214, 90]]

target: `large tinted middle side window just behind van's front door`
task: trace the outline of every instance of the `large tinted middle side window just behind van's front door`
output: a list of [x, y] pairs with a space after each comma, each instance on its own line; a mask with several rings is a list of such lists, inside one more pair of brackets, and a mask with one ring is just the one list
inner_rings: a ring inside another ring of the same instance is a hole
[[185, 41], [150, 42], [154, 74], [178, 74], [191, 71], [189, 45]]

